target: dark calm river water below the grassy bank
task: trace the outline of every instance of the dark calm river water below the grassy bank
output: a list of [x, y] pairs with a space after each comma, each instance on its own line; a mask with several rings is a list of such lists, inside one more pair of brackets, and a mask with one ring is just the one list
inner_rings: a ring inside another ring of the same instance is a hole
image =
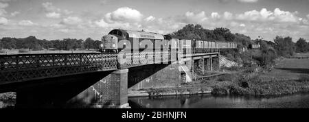
[[282, 97], [181, 95], [130, 97], [132, 108], [309, 108], [309, 94]]

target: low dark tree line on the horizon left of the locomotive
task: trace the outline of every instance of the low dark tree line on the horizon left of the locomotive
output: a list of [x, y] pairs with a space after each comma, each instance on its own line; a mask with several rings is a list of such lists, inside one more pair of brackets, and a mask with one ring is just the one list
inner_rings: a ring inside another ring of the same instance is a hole
[[73, 49], [99, 49], [100, 40], [87, 38], [86, 40], [76, 38], [64, 38], [62, 40], [41, 40], [35, 36], [27, 38], [5, 37], [0, 40], [1, 49], [32, 49], [34, 51], [43, 49], [73, 50]]

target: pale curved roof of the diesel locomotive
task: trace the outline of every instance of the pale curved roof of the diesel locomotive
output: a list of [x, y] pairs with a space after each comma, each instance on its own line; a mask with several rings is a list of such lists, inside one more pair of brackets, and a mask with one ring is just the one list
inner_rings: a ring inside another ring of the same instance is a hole
[[[115, 29], [113, 29], [113, 30], [115, 30]], [[117, 29], [117, 30], [122, 32], [123, 34], [128, 34], [129, 38], [150, 38], [150, 39], [164, 40], [164, 36], [161, 35], [161, 34], [157, 34], [157, 33], [124, 30], [124, 29]]]

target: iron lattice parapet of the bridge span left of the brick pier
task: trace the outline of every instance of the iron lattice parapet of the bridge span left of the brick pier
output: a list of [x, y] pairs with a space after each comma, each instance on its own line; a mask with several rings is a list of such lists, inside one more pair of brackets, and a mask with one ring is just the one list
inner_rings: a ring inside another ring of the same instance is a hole
[[117, 69], [117, 53], [44, 53], [0, 56], [0, 84]]

